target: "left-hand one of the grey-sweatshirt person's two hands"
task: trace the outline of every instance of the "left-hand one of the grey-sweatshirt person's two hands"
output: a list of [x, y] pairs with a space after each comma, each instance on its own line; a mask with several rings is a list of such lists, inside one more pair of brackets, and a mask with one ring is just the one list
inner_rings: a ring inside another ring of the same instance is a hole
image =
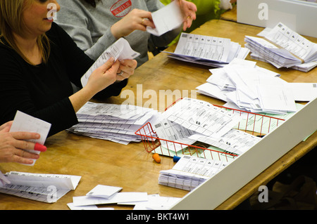
[[128, 15], [111, 26], [113, 37], [128, 36], [135, 30], [146, 31], [147, 26], [155, 28], [151, 12], [134, 8]]

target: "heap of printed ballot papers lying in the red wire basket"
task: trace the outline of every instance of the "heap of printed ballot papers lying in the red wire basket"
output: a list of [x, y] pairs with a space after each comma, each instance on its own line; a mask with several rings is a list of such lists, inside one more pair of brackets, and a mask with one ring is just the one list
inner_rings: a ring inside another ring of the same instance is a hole
[[[234, 159], [232, 154], [237, 156], [247, 152], [261, 140], [235, 129], [241, 119], [240, 114], [234, 114], [232, 110], [211, 105], [203, 100], [183, 98], [163, 112], [160, 120], [154, 124], [161, 145], [153, 152], [171, 157], [191, 154], [230, 162]], [[209, 147], [195, 152], [193, 145], [197, 143], [205, 143]]]

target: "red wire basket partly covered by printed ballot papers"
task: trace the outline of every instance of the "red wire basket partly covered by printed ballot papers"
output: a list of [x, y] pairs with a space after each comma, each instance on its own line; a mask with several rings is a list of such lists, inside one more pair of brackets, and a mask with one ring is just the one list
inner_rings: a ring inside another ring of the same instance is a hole
[[[178, 100], [175, 101], [175, 103], [176, 102], [178, 102]], [[173, 105], [175, 103], [173, 103]], [[170, 107], [173, 105], [170, 105]], [[242, 119], [242, 121], [237, 124], [236, 129], [248, 132], [251, 135], [258, 137], [265, 136], [271, 131], [270, 129], [272, 129], [272, 127], [277, 127], [279, 122], [285, 121], [285, 119], [270, 117], [263, 114], [256, 114], [218, 105], [215, 106], [221, 107], [225, 110], [231, 110], [232, 113], [239, 113], [240, 116], [244, 116], [244, 119]], [[168, 110], [168, 108], [169, 107], [167, 107], [166, 110]], [[250, 125], [252, 123], [253, 126]], [[225, 150], [210, 149], [208, 148], [210, 145], [207, 145], [205, 143], [194, 143], [193, 145], [187, 145], [185, 143], [178, 143], [176, 141], [159, 138], [159, 136], [157, 136], [156, 132], [152, 128], [150, 122], [144, 124], [144, 126], [138, 129], [135, 134], [141, 136], [142, 143], [147, 152], [155, 152], [169, 157], [189, 154], [191, 156], [218, 159], [220, 161], [228, 162], [230, 161], [230, 159], [235, 159], [235, 157], [238, 156], [238, 154], [231, 153]]]

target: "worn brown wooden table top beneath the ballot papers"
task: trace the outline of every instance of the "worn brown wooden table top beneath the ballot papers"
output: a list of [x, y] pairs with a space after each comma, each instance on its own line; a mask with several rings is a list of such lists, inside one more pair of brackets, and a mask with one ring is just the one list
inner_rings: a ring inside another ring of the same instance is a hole
[[[244, 45], [244, 35], [256, 35], [263, 28], [242, 25], [237, 22], [225, 20], [211, 20], [206, 22], [193, 33], [214, 37], [227, 37]], [[316, 38], [308, 37], [317, 42]], [[167, 51], [173, 51], [175, 46], [170, 46]], [[248, 56], [249, 60], [251, 60]], [[281, 78], [289, 82], [317, 82], [317, 70], [299, 72], [297, 70], [280, 69], [265, 62], [257, 65], [275, 72], [280, 72]], [[170, 104], [167, 99], [173, 98], [176, 91], [184, 91], [182, 97], [191, 97], [191, 91], [206, 82], [211, 75], [210, 67], [180, 62], [167, 57], [165, 53], [156, 55], [153, 59], [139, 67], [130, 78], [128, 86], [123, 89], [129, 98], [120, 96], [111, 98], [108, 103], [135, 102], [147, 105], [158, 110]], [[137, 84], [139, 84], [137, 86]], [[140, 85], [142, 84], [142, 85]], [[161, 95], [159, 94], [161, 91]], [[186, 93], [189, 95], [186, 95]], [[134, 94], [134, 98], [131, 93]], [[156, 93], [147, 95], [147, 93]], [[223, 105], [225, 102], [197, 94], [200, 100]], [[151, 100], [150, 100], [151, 99]], [[139, 100], [139, 101], [137, 101]], [[150, 101], [149, 101], [150, 100]], [[259, 185], [265, 185], [292, 163], [296, 162], [306, 152], [316, 147], [317, 133], [310, 136], [305, 142], [299, 143], [290, 152], [275, 162], [268, 169], [260, 173], [246, 186], [242, 187], [235, 195], [223, 202], [217, 209], [233, 209], [255, 192]], [[161, 157], [161, 164], [156, 164], [151, 154], [145, 152], [142, 143], [120, 145], [106, 140], [97, 140], [73, 133], [62, 131], [51, 136], [45, 144], [49, 150], [41, 153], [35, 166], [20, 164], [0, 164], [0, 170], [23, 171], [30, 173], [57, 173], [82, 176], [75, 191], [68, 192], [58, 202], [46, 204], [29, 199], [0, 194], [0, 209], [68, 209], [67, 203], [73, 202], [74, 196], [86, 195], [98, 184], [123, 187], [123, 192], [148, 192], [161, 196], [183, 197], [188, 192], [185, 190], [166, 187], [158, 184], [159, 171], [173, 167], [173, 159]], [[132, 206], [116, 206], [116, 209], [132, 209]]]

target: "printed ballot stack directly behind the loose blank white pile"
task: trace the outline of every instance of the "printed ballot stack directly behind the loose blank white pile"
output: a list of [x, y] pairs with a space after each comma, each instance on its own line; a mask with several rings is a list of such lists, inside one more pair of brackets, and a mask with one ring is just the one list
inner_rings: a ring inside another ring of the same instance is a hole
[[233, 58], [246, 58], [249, 49], [242, 48], [240, 44], [232, 42], [228, 38], [182, 33], [175, 52], [163, 52], [168, 53], [170, 58], [185, 62], [223, 67]]

